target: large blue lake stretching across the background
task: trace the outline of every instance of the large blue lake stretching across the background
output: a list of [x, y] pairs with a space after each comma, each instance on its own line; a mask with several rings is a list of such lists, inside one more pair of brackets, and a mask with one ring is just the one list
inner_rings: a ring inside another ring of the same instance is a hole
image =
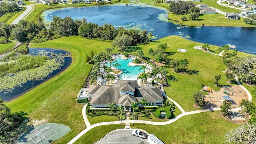
[[83, 8], [60, 8], [42, 13], [44, 22], [50, 23], [52, 16], [74, 20], [86, 18], [87, 22], [104, 23], [124, 28], [143, 29], [152, 32], [157, 38], [170, 35], [190, 37], [195, 42], [222, 46], [236, 45], [239, 51], [256, 54], [256, 28], [204, 26], [198, 28], [180, 27], [168, 22], [167, 10], [147, 5], [112, 5]]

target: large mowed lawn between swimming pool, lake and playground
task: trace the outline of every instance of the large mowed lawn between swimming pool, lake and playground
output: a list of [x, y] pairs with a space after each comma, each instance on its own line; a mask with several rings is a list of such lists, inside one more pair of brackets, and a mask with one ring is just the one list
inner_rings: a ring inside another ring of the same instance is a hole
[[[187, 59], [188, 71], [191, 74], [178, 74], [172, 72], [172, 68], [166, 68], [168, 70], [167, 80], [169, 87], [164, 88], [167, 96], [175, 100], [184, 108], [185, 111], [196, 110], [193, 107], [194, 101], [191, 98], [191, 94], [200, 90], [201, 82], [209, 85], [214, 90], [218, 91], [220, 88], [214, 86], [214, 80], [216, 75], [222, 75], [220, 84], [226, 84], [228, 81], [224, 73], [225, 66], [222, 63], [222, 57], [202, 52], [202, 50], [194, 49], [194, 46], [202, 46], [203, 44], [198, 42], [192, 42], [182, 38], [180, 36], [168, 36], [166, 38], [159, 39], [155, 42], [151, 42], [147, 45], [141, 45], [146, 57], [150, 58], [148, 54], [149, 48], [156, 50], [158, 44], [166, 43], [170, 48], [166, 49], [166, 52], [170, 54], [168, 58], [171, 59]], [[187, 52], [178, 52], [179, 48], [187, 49]], [[210, 46], [210, 50], [216, 51], [217, 46]]]

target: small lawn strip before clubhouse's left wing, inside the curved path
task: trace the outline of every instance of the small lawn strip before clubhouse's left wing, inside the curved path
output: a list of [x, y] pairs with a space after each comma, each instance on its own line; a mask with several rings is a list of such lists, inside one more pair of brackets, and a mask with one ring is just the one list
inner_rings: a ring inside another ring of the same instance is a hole
[[106, 116], [106, 115], [102, 115], [102, 116], [87, 116], [90, 124], [97, 124], [100, 122], [112, 122], [112, 121], [117, 121], [118, 118], [117, 116]]

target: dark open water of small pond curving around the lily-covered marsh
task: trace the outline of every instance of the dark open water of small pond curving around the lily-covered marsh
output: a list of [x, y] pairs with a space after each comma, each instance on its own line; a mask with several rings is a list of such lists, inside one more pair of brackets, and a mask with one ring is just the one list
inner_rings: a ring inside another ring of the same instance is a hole
[[[49, 55], [50, 53], [65, 55], [66, 53], [68, 53], [67, 51], [64, 51], [64, 50], [57, 50], [57, 49], [51, 49], [51, 48], [29, 48], [29, 54], [31, 55], [41, 54], [41, 52], [49, 52], [47, 55]], [[11, 100], [14, 100], [15, 98], [18, 98], [19, 96], [22, 96], [23, 94], [32, 90], [39, 84], [42, 84], [43, 82], [46, 82], [53, 76], [57, 76], [58, 74], [60, 74], [62, 71], [68, 68], [68, 66], [70, 66], [71, 62], [72, 62], [71, 56], [65, 56], [64, 64], [60, 66], [59, 69], [54, 70], [52, 73], [48, 74], [44, 78], [40, 78], [40, 80], [30, 80], [22, 84], [21, 86], [13, 88], [12, 90], [4, 90], [0, 92], [0, 98], [2, 98], [3, 101], [9, 102]]]

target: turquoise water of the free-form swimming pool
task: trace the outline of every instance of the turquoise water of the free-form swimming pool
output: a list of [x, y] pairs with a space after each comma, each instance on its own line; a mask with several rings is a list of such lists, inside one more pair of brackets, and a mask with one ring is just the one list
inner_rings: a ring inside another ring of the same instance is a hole
[[[115, 67], [113, 65], [116, 64], [117, 62], [118, 64], [121, 64], [121, 66], [118, 66], [117, 68], [123, 71], [123, 73], [120, 74], [119, 76], [120, 80], [137, 80], [139, 74], [143, 72], [142, 69], [139, 70], [141, 66], [128, 65], [128, 63], [132, 62], [132, 59], [130, 58], [124, 60], [122, 57], [117, 57], [116, 61], [111, 63], [112, 67]], [[109, 62], [107, 62], [105, 66], [110, 66]]]

